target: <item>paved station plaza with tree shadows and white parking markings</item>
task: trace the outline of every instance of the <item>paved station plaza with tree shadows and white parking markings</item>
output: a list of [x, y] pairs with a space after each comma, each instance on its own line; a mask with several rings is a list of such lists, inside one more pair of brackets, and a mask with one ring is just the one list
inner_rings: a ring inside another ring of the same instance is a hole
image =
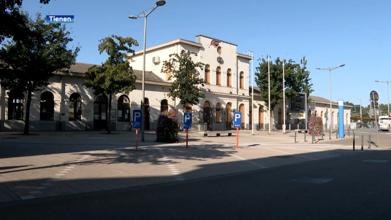
[[[269, 169], [348, 154], [387, 150], [391, 135], [381, 134], [380, 148], [368, 142], [361, 151], [361, 136], [356, 151], [350, 137], [324, 140], [297, 133], [272, 134], [256, 131], [236, 136], [203, 137], [189, 132], [185, 143], [154, 142], [153, 132], [135, 151], [134, 132], [34, 132], [36, 135], [0, 133], [0, 203], [55, 197], [70, 194], [138, 187], [195, 180], [241, 172]], [[181, 140], [185, 140], [180, 132]], [[377, 141], [371, 135], [371, 141]], [[139, 137], [139, 140], [141, 138]], [[365, 139], [367, 141], [367, 139]], [[384, 143], [384, 144], [383, 144]], [[374, 143], [376, 144], [376, 143]], [[387, 146], [388, 145], [388, 146]]]

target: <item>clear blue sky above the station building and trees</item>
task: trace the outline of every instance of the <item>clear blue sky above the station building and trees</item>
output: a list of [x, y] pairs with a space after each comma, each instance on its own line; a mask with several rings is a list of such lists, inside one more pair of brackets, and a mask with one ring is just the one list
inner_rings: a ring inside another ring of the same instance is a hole
[[[132, 37], [142, 49], [144, 20], [129, 15], [152, 8], [155, 0], [24, 0], [23, 9], [43, 15], [74, 15], [74, 45], [80, 44], [77, 62], [100, 64], [98, 40], [111, 34]], [[166, 0], [148, 16], [147, 47], [178, 38], [195, 41], [198, 34], [238, 44], [238, 52], [254, 51], [254, 57], [308, 60], [315, 92], [329, 98], [326, 68], [332, 71], [332, 100], [369, 104], [369, 93], [379, 93], [387, 104], [391, 80], [391, 1], [378, 0]], [[254, 69], [258, 62], [254, 62]]]

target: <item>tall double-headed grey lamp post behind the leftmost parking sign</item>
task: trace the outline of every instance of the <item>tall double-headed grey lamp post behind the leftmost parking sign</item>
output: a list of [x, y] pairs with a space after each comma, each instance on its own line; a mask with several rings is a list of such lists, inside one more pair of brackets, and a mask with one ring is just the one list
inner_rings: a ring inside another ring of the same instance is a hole
[[[141, 111], [142, 111], [142, 120], [141, 120], [141, 141], [145, 141], [144, 139], [144, 128], [145, 128], [145, 114], [144, 114], [144, 110], [145, 110], [145, 103], [144, 103], [144, 99], [145, 99], [145, 50], [146, 50], [146, 40], [147, 40], [147, 17], [148, 15], [151, 14], [151, 12], [153, 10], [155, 10], [155, 8], [159, 7], [159, 6], [163, 6], [166, 4], [166, 1], [165, 0], [158, 0], [156, 1], [156, 6], [154, 6], [151, 11], [145, 13], [146, 10], [142, 11], [139, 15], [137, 16], [134, 16], [134, 15], [130, 15], [128, 18], [130, 19], [137, 19], [137, 18], [144, 18], [144, 51], [143, 51], [143, 83], [142, 83], [142, 93], [143, 93], [143, 97], [141, 99]], [[148, 10], [148, 9], [147, 9]]]

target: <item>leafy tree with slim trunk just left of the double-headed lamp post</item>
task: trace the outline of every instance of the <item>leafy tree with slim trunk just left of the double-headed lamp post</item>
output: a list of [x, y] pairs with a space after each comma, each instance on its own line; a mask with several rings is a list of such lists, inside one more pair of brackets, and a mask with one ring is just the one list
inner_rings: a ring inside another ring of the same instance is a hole
[[111, 99], [116, 94], [130, 93], [136, 87], [136, 76], [129, 63], [127, 54], [134, 53], [130, 49], [132, 45], [138, 46], [136, 40], [116, 35], [99, 40], [99, 54], [106, 52], [109, 58], [102, 66], [91, 66], [87, 72], [87, 80], [84, 86], [92, 88], [94, 95], [109, 95], [108, 133], [110, 128]]

